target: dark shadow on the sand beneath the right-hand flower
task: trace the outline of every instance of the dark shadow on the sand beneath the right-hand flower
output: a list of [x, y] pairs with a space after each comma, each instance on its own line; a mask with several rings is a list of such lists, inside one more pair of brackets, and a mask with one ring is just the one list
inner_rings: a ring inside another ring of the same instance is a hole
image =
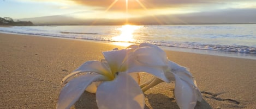
[[[149, 106], [145, 105], [145, 109], [163, 109], [163, 108], [174, 108], [180, 109], [175, 101], [174, 98], [169, 98], [164, 94], [145, 94], [145, 97], [148, 100]], [[195, 109], [205, 108], [210, 109], [212, 108], [204, 99], [201, 102], [197, 102]]]

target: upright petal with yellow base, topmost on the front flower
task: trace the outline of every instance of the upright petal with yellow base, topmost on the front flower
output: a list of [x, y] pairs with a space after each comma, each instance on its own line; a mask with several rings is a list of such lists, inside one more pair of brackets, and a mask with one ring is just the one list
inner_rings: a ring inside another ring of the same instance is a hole
[[126, 57], [126, 53], [127, 49], [103, 52], [105, 60], [108, 62], [112, 73], [120, 71], [124, 58]]

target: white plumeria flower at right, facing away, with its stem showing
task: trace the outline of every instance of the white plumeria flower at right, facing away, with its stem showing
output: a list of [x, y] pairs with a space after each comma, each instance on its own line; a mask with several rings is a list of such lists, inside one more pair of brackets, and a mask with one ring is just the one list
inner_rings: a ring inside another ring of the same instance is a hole
[[[135, 63], [133, 66], [142, 64], [145, 67], [154, 69], [150, 69], [153, 72], [156, 72], [158, 69], [162, 71], [160, 73], [165, 74], [169, 81], [175, 81], [175, 99], [181, 109], [194, 108], [197, 101], [202, 100], [201, 92], [197, 88], [195, 80], [188, 69], [169, 61], [162, 49], [149, 43], [142, 43], [139, 46], [130, 46], [128, 48], [136, 48], [132, 56], [137, 56], [138, 58], [130, 58], [131, 63]], [[133, 68], [128, 70], [132, 70]], [[140, 85], [140, 87], [142, 91], [147, 91], [147, 89], [150, 89], [160, 82], [163, 82], [162, 78], [154, 78], [146, 84]]]

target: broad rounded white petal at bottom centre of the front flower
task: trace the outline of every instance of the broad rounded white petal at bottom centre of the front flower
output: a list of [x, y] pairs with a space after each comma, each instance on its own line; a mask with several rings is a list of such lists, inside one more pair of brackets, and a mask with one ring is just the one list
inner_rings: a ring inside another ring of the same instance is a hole
[[96, 93], [100, 109], [144, 108], [144, 94], [127, 73], [118, 73], [115, 80], [99, 85]]

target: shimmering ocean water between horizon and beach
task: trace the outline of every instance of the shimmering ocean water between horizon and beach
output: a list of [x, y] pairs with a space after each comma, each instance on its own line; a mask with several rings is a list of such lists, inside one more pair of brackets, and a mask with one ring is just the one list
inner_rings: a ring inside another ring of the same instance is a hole
[[152, 43], [170, 50], [256, 59], [256, 24], [66, 25], [0, 27], [2, 33], [110, 43]]

